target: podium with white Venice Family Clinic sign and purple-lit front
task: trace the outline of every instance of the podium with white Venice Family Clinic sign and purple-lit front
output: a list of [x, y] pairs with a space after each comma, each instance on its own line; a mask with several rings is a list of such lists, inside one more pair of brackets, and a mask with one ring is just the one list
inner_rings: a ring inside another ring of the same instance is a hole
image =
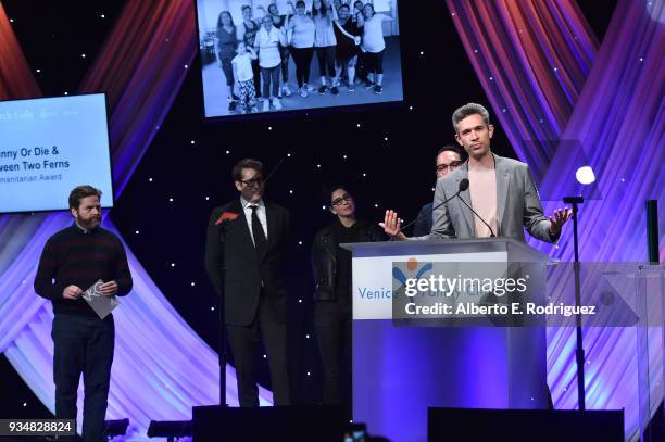
[[[353, 420], [392, 441], [427, 440], [428, 407], [548, 406], [542, 327], [401, 327], [392, 320], [393, 263], [537, 263], [529, 299], [545, 296], [550, 258], [506, 239], [365, 242], [352, 252]], [[538, 264], [540, 263], [540, 264]], [[414, 269], [414, 271], [416, 271]], [[451, 429], [452, 430], [452, 429]], [[457, 431], [463, 429], [457, 428]]]

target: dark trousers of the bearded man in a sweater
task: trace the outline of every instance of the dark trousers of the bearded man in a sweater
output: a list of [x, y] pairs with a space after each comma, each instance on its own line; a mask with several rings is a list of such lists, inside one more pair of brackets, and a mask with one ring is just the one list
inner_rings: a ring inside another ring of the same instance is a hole
[[99, 442], [104, 432], [111, 364], [115, 343], [113, 316], [98, 317], [57, 314], [53, 338], [53, 381], [55, 418], [76, 419], [76, 391], [84, 376], [83, 438]]

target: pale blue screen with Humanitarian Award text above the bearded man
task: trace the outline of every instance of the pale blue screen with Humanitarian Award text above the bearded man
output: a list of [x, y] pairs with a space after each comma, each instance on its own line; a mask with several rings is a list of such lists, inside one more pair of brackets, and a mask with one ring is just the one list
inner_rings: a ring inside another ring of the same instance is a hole
[[79, 185], [113, 206], [105, 96], [0, 101], [0, 213], [68, 210]]

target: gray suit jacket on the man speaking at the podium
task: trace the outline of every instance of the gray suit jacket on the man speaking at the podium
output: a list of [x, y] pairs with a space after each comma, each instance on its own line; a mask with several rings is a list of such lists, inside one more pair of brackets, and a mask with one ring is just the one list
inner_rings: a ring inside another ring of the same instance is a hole
[[[516, 160], [494, 155], [497, 164], [497, 206], [499, 210], [498, 237], [525, 242], [524, 228], [542, 241], [555, 242], [559, 236], [550, 235], [550, 219], [542, 213], [540, 197], [531, 179], [529, 168]], [[468, 161], [455, 172], [437, 180], [434, 206], [454, 195], [462, 179], [468, 179]], [[460, 198], [470, 205], [469, 190]], [[434, 226], [428, 239], [475, 238], [475, 215], [459, 198], [454, 198], [434, 212]], [[425, 238], [423, 238], [425, 239]]]

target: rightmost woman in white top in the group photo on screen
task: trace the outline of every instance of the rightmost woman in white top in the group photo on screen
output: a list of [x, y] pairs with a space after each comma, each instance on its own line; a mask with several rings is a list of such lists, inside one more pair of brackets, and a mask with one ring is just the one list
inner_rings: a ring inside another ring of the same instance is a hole
[[384, 92], [384, 50], [386, 49], [382, 23], [392, 21], [392, 17], [375, 13], [372, 3], [363, 7], [363, 17], [365, 26], [363, 27], [362, 49], [365, 53], [365, 63], [367, 65], [367, 83], [365, 88], [374, 89], [374, 93], [379, 94]]

